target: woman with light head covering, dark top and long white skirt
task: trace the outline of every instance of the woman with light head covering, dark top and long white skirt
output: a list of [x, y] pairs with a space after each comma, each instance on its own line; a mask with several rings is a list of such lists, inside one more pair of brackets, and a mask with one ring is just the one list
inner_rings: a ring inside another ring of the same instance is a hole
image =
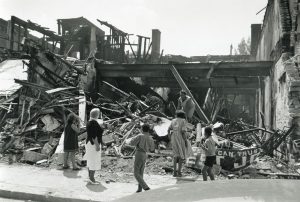
[[103, 129], [99, 125], [100, 110], [94, 108], [90, 112], [90, 120], [87, 123], [87, 138], [85, 144], [85, 159], [89, 172], [90, 183], [98, 184], [95, 180], [95, 172], [101, 169], [101, 144]]

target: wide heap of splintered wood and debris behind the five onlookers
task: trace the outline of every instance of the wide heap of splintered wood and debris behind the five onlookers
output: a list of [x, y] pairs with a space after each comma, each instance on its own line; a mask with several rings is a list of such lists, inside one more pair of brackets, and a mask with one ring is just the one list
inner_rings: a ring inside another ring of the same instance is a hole
[[[23, 61], [23, 66], [27, 67], [27, 79], [15, 79], [19, 88], [0, 98], [0, 148], [4, 159], [8, 158], [9, 163], [17, 161], [57, 166], [59, 160], [54, 154], [61, 153], [58, 148], [62, 143], [66, 117], [69, 113], [74, 113], [81, 120], [77, 160], [78, 164], [84, 166], [82, 156], [85, 153], [87, 114], [97, 107], [101, 109], [100, 124], [105, 129], [102, 175], [107, 175], [109, 179], [114, 175], [113, 181], [118, 181], [121, 177], [116, 176], [116, 173], [132, 172], [132, 167], [128, 165], [131, 164], [135, 148], [128, 143], [140, 133], [140, 128], [145, 123], [150, 124], [151, 135], [156, 143], [155, 153], [149, 154], [147, 172], [160, 175], [172, 173], [172, 150], [167, 136], [172, 118], [163, 113], [163, 102], [159, 98], [146, 98], [148, 102], [144, 102], [142, 98], [131, 92], [124, 92], [107, 81], [102, 81], [106, 88], [96, 95], [89, 92], [86, 89], [91, 86], [88, 78], [91, 78], [89, 73], [95, 71], [95, 58], [76, 61], [33, 48], [30, 49], [29, 56], [28, 61]], [[270, 155], [277, 149], [290, 134], [290, 130], [270, 132], [241, 120], [224, 123], [215, 122], [213, 125], [219, 159], [215, 173], [221, 172], [220, 177], [233, 178], [237, 175], [239, 178], [248, 178], [245, 175], [249, 175], [247, 172], [250, 171], [255, 177], [275, 174], [286, 176], [291, 173], [295, 173], [294, 178], [298, 177], [297, 169], [290, 170], [284, 163], [280, 164], [282, 167], [279, 166], [280, 169], [276, 172], [266, 173], [259, 166], [260, 162], [254, 161], [260, 154]], [[187, 125], [194, 156], [187, 159], [183, 169], [186, 175], [197, 175], [203, 167], [205, 158], [197, 143], [201, 141], [205, 126]], [[266, 161], [273, 162], [273, 159], [268, 158]], [[276, 166], [278, 165], [277, 163]]]

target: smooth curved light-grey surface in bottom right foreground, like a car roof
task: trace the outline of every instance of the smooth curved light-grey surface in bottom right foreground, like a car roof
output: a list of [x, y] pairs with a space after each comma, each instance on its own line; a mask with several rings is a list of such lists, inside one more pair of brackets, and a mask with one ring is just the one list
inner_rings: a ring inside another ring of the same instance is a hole
[[299, 202], [300, 180], [236, 179], [176, 184], [115, 202]]

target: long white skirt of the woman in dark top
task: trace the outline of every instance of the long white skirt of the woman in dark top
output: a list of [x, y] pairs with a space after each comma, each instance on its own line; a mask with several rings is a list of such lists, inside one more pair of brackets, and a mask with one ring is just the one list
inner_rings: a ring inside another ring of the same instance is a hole
[[101, 169], [101, 145], [100, 151], [96, 151], [96, 145], [92, 145], [91, 142], [85, 144], [85, 155], [83, 157], [87, 162], [89, 170]]

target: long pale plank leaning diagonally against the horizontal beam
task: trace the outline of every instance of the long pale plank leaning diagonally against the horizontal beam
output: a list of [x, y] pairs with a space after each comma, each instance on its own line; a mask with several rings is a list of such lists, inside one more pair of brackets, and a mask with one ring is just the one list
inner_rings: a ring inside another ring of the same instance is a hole
[[178, 73], [178, 71], [176, 70], [176, 68], [172, 65], [170, 66], [170, 70], [172, 71], [174, 77], [176, 78], [177, 82], [179, 83], [180, 87], [185, 90], [187, 92], [187, 94], [192, 98], [192, 100], [195, 103], [195, 107], [196, 107], [196, 112], [198, 113], [199, 117], [203, 117], [204, 121], [206, 123], [209, 123], [209, 119], [207, 118], [207, 116], [205, 115], [205, 113], [203, 112], [203, 110], [201, 109], [201, 107], [199, 106], [198, 102], [196, 101], [196, 99], [194, 98], [193, 94], [191, 93], [191, 91], [189, 90], [189, 88], [187, 87], [187, 85], [185, 84], [185, 82], [183, 81], [183, 79], [181, 78], [180, 74]]

